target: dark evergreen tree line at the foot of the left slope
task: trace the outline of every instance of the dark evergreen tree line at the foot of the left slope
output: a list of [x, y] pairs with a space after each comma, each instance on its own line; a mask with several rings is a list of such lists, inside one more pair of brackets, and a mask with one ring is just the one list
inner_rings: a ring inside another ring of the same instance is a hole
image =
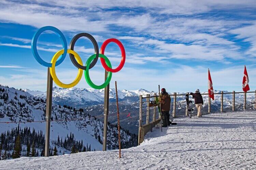
[[[54, 148], [49, 148], [49, 155], [55, 156], [59, 154], [65, 154], [65, 149], [71, 151], [71, 153], [88, 152], [92, 151], [91, 145], [86, 146], [83, 144], [83, 140], [75, 140], [74, 134], [70, 133], [63, 140], [58, 136], [58, 139], [52, 141]], [[25, 127], [20, 128], [19, 124], [16, 128], [7, 130], [0, 135], [0, 160], [19, 158], [22, 156], [36, 157], [44, 156], [45, 136], [42, 131], [36, 132], [33, 128]], [[25, 149], [26, 147], [26, 149]], [[58, 151], [57, 147], [64, 148]], [[94, 149], [95, 151], [95, 149]]]

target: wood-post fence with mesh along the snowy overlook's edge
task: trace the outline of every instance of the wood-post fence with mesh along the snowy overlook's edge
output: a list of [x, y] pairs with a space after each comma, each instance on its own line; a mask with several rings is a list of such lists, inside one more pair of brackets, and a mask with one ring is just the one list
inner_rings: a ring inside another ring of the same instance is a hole
[[[203, 98], [202, 114], [228, 111], [241, 111], [246, 109], [256, 109], [256, 90], [247, 92], [219, 92], [214, 94], [215, 100], [209, 97], [209, 94], [201, 94]], [[170, 95], [172, 101], [170, 112], [172, 116], [180, 117], [188, 115], [188, 108], [186, 105], [186, 94], [177, 94], [174, 92]], [[189, 95], [191, 96], [191, 95]], [[139, 140], [140, 145], [144, 140], [147, 132], [152, 131], [152, 128], [160, 122], [160, 113], [156, 105], [151, 106], [151, 101], [156, 101], [158, 95], [150, 96], [140, 95], [139, 103]], [[192, 100], [190, 97], [189, 100]], [[194, 107], [192, 115], [197, 114], [197, 109], [194, 105], [194, 100], [190, 103], [190, 107]]]

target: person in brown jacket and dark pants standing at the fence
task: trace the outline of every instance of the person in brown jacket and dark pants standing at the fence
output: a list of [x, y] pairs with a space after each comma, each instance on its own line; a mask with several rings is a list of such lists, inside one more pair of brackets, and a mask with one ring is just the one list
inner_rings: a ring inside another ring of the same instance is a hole
[[161, 104], [161, 112], [162, 112], [162, 127], [170, 126], [170, 105], [171, 105], [171, 98], [166, 92], [165, 88], [161, 89], [160, 95], [160, 104]]

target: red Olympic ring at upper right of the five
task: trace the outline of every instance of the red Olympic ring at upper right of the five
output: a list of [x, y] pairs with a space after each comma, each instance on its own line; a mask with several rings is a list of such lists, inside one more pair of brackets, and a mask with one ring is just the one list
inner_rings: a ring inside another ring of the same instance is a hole
[[104, 69], [106, 71], [115, 73], [115, 72], [120, 71], [124, 67], [124, 64], [125, 64], [125, 48], [124, 48], [123, 44], [118, 39], [110, 38], [110, 39], [105, 40], [104, 43], [102, 44], [102, 46], [100, 48], [100, 53], [101, 54], [104, 54], [106, 46], [111, 42], [116, 43], [119, 46], [120, 50], [121, 50], [122, 59], [121, 59], [121, 62], [119, 64], [119, 66], [116, 67], [115, 69], [110, 68], [108, 65], [106, 65], [106, 62], [105, 62], [104, 58], [100, 58], [100, 62], [101, 62], [102, 66], [104, 67]]

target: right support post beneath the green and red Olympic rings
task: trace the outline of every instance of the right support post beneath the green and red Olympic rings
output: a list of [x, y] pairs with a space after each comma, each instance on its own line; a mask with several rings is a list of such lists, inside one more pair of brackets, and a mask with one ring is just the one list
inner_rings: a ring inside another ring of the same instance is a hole
[[[108, 71], [105, 71], [105, 81], [108, 77]], [[107, 150], [108, 135], [108, 115], [109, 115], [109, 84], [104, 88], [104, 124], [103, 124], [103, 151]]]

